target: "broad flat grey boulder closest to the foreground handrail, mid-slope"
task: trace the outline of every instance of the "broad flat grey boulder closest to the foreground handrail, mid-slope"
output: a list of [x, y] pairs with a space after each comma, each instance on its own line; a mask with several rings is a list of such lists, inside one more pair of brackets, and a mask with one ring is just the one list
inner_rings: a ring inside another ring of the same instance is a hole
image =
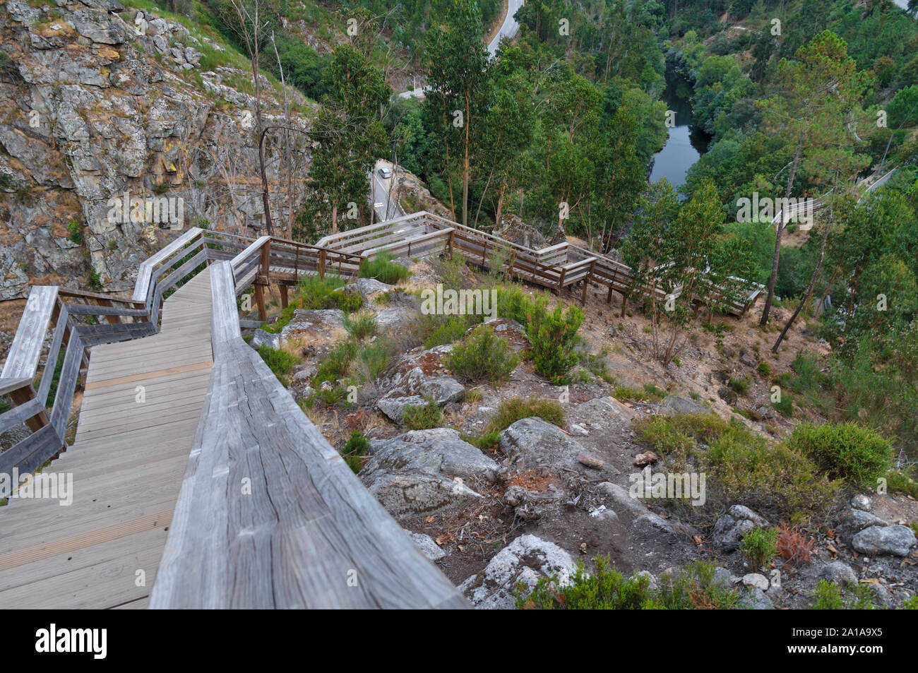
[[393, 516], [430, 513], [480, 498], [467, 479], [492, 481], [498, 464], [451, 428], [418, 430], [371, 448], [364, 486]]

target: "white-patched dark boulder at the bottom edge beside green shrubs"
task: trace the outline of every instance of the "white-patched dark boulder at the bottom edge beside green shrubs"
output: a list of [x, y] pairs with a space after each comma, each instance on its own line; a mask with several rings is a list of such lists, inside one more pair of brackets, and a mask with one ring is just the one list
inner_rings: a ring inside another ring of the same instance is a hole
[[521, 535], [501, 549], [484, 570], [459, 585], [459, 590], [476, 608], [511, 610], [516, 607], [518, 585], [534, 589], [540, 578], [551, 576], [564, 585], [574, 566], [571, 555], [557, 544], [535, 535]]

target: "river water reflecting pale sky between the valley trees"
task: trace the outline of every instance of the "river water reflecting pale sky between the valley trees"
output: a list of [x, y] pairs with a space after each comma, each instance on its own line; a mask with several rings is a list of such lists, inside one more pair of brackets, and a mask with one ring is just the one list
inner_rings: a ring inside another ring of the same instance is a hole
[[690, 94], [689, 83], [667, 71], [663, 100], [666, 107], [676, 113], [676, 126], [669, 129], [666, 145], [654, 155], [654, 168], [649, 178], [652, 183], [665, 177], [675, 187], [684, 185], [689, 168], [708, 149], [710, 136], [691, 126]]

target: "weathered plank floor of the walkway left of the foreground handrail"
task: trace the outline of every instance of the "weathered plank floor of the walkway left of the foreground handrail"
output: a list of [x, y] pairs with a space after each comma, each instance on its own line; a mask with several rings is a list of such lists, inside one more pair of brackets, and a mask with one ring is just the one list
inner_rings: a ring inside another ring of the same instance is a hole
[[159, 333], [92, 349], [76, 440], [44, 470], [73, 474], [73, 504], [0, 507], [0, 605], [146, 607], [210, 384], [210, 304], [204, 272]]

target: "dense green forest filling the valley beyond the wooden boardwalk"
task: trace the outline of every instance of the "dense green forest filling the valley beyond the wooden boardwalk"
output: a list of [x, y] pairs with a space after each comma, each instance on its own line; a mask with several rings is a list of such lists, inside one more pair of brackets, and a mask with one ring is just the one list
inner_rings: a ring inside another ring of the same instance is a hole
[[[294, 17], [285, 7], [276, 16]], [[549, 239], [616, 251], [639, 273], [666, 260], [659, 280], [671, 286], [702, 282], [699, 267], [761, 283], [763, 329], [772, 306], [797, 309], [774, 325], [776, 351], [798, 318], [833, 348], [827, 362], [800, 354], [788, 395], [918, 454], [914, 7], [546, 0], [521, 8], [519, 34], [495, 59], [482, 40], [500, 14], [493, 0], [299, 7], [297, 20], [321, 12], [340, 28], [324, 53], [289, 22], [274, 24], [263, 45], [275, 56], [263, 68], [322, 104], [315, 123], [328, 140], [314, 151], [297, 236], [367, 223], [363, 206], [356, 219], [340, 213], [365, 202], [364, 176], [386, 158], [467, 226], [515, 215]], [[358, 35], [344, 31], [349, 17]], [[422, 100], [390, 96], [399, 68], [423, 75]], [[678, 188], [648, 184], [667, 138], [662, 94], [673, 74], [710, 140]], [[754, 195], [820, 198], [822, 208], [808, 235], [796, 222], [736, 221]], [[646, 310], [659, 314], [664, 343], [696, 320], [688, 303]], [[668, 363], [674, 352], [658, 355]]]

